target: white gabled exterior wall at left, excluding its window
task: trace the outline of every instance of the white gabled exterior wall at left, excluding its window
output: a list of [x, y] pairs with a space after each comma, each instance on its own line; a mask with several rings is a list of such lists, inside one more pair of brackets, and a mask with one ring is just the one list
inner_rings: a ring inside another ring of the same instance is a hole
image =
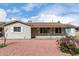
[[[14, 32], [13, 27], [21, 27], [21, 32]], [[7, 39], [31, 39], [31, 27], [21, 23], [14, 23], [4, 27]]]

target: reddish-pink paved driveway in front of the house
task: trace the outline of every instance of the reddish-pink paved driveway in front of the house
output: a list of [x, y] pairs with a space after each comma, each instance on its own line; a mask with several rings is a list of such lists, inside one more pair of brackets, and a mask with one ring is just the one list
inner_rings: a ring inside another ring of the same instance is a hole
[[[2, 42], [2, 40], [0, 40]], [[0, 48], [5, 56], [62, 56], [56, 40], [7, 40], [7, 47]]]

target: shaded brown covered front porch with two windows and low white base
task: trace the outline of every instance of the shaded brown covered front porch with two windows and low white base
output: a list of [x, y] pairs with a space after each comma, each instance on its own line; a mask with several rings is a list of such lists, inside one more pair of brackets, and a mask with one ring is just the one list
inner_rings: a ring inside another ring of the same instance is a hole
[[32, 38], [57, 38], [65, 37], [65, 28], [49, 28], [49, 27], [40, 27], [40, 28], [31, 28]]

